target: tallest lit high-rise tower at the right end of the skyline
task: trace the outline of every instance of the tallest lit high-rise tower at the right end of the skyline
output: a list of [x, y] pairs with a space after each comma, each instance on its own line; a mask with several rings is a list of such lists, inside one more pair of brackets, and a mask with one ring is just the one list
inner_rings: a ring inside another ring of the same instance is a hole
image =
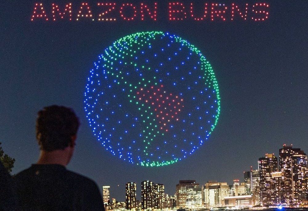
[[[282, 200], [297, 204], [307, 199], [307, 155], [292, 145], [279, 149], [279, 167], [282, 172]], [[306, 184], [306, 185], [305, 185]]]

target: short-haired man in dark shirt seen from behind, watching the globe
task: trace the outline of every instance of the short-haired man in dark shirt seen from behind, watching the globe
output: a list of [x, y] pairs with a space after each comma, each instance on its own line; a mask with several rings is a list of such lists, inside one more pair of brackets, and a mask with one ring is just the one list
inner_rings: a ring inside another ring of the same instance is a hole
[[52, 105], [38, 112], [39, 160], [14, 177], [21, 210], [104, 210], [95, 182], [66, 169], [78, 128], [70, 108]]

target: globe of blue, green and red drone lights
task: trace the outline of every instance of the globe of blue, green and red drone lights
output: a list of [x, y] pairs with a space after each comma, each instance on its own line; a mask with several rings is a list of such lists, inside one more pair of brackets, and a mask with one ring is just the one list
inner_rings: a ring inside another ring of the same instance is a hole
[[87, 78], [84, 109], [107, 151], [133, 164], [164, 166], [209, 139], [220, 97], [200, 50], [176, 35], [140, 32], [99, 55]]

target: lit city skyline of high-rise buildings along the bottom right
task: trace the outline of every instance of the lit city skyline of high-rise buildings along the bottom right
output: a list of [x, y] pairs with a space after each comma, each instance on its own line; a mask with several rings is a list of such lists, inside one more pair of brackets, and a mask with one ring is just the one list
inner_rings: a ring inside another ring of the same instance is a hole
[[[253, 169], [252, 166], [250, 166], [250, 171], [243, 172], [243, 180], [233, 179], [232, 185], [227, 182], [209, 180], [206, 183], [203, 183], [205, 185], [202, 185], [201, 183], [200, 187], [200, 184], [197, 183], [196, 180], [180, 180], [176, 185], [175, 192], [173, 194], [176, 198], [176, 207], [209, 207], [217, 203], [220, 206], [223, 206], [224, 204], [219, 201], [223, 201], [224, 197], [230, 197], [228, 200], [232, 200], [232, 196], [237, 197], [244, 195], [251, 195], [251, 198], [249, 198], [251, 202], [249, 203], [252, 205], [268, 206], [295, 204], [303, 201], [308, 203], [307, 155], [300, 148], [292, 148], [292, 146], [292, 144], [282, 145], [282, 148], [279, 149], [279, 160], [278, 157], [274, 156], [274, 153], [266, 153], [265, 156], [258, 159], [258, 169]], [[289, 159], [290, 156], [291, 159]], [[284, 174], [284, 171], [286, 171], [284, 169], [290, 168], [291, 172], [294, 172], [291, 177], [288, 176], [288, 173]], [[288, 183], [290, 180], [292, 180], [291, 186]], [[126, 183], [126, 185], [127, 184], [128, 183]], [[133, 184], [136, 191], [136, 183], [134, 182]], [[156, 192], [153, 191], [159, 190], [160, 188], [158, 187], [160, 187], [160, 185], [163, 189], [163, 193], [166, 194], [163, 184], [155, 184], [152, 181], [143, 181], [141, 183], [141, 196], [144, 195], [144, 197], [141, 198], [141, 205], [143, 209], [147, 207], [157, 207], [154, 205]], [[217, 191], [219, 190], [217, 193], [219, 193], [221, 198], [217, 199], [218, 201], [215, 201], [216, 199], [211, 201], [213, 199], [208, 196], [211, 194], [211, 190], [215, 189], [217, 189]], [[198, 199], [198, 197], [195, 197], [194, 195], [197, 194], [198, 191], [200, 191], [200, 194], [202, 192], [202, 204], [201, 198]], [[290, 192], [292, 193], [291, 195]], [[190, 202], [190, 198], [194, 199], [192, 203]], [[149, 201], [149, 199], [154, 201]], [[198, 200], [200, 200], [200, 202]], [[248, 202], [245, 201], [243, 203], [245, 204]]]

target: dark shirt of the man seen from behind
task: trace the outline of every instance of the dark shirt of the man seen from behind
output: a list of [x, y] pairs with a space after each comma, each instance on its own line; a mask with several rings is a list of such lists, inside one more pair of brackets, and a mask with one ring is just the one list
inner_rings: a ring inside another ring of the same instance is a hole
[[35, 164], [14, 180], [21, 210], [104, 211], [95, 182], [62, 165]]

